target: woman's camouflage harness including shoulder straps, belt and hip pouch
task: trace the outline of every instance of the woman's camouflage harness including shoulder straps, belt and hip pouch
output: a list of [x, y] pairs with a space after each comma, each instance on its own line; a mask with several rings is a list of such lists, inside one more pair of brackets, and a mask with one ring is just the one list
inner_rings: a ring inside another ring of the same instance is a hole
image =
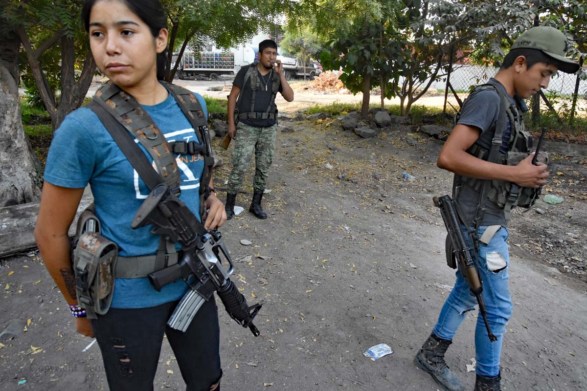
[[[210, 196], [211, 189], [209, 183], [212, 175], [212, 166], [214, 165], [207, 119], [204, 117], [200, 102], [191, 91], [183, 87], [174, 86], [173, 84], [161, 83], [164, 84], [174, 97], [181, 111], [194, 128], [198, 142], [168, 142], [161, 130], [157, 127], [157, 124], [143, 110], [136, 99], [121, 90], [112, 81], [108, 81], [100, 86], [87, 107], [94, 111], [98, 118], [100, 118], [106, 130], [112, 135], [114, 141], [119, 146], [126, 144], [126, 149], [134, 147], [137, 150], [136, 153], [131, 155], [127, 155], [125, 152], [125, 155], [129, 158], [129, 161], [131, 161], [131, 164], [133, 164], [133, 167], [137, 170], [139, 176], [149, 189], [158, 185], [158, 183], [155, 183], [158, 177], [154, 179], [153, 175], [145, 175], [147, 171], [151, 170], [151, 164], [137, 145], [130, 145], [135, 143], [128, 134], [124, 134], [127, 131], [149, 152], [161, 180], [177, 196], [180, 195], [181, 178], [175, 154], [203, 155], [204, 171], [200, 179], [200, 216], [202, 216], [205, 208], [204, 200]], [[121, 149], [123, 148], [121, 147]], [[85, 219], [95, 219], [99, 227], [99, 221], [93, 214], [93, 210], [92, 204], [84, 212]], [[89, 212], [90, 215], [86, 212]], [[82, 232], [82, 227], [83, 225], [77, 225], [76, 236], [73, 240], [73, 246], [76, 246], [75, 251], [73, 251], [75, 254], [73, 266], [76, 273], [77, 297], [80, 305], [86, 308], [86, 312], [90, 318], [95, 317], [96, 313], [105, 314], [108, 310], [114, 291], [114, 278], [146, 277], [148, 274], [176, 264], [178, 261], [175, 244], [167, 242], [163, 239], [163, 236], [161, 236], [159, 249], [154, 255], [117, 257], [116, 254], [113, 259], [112, 249], [113, 246], [116, 247], [116, 244], [99, 236], [99, 230], [98, 232]], [[90, 242], [96, 243], [96, 245], [81, 246], [83, 243], [89, 244]], [[101, 245], [97, 246], [97, 244]], [[107, 254], [104, 253], [106, 250]], [[107, 265], [104, 264], [104, 258], [109, 259]], [[106, 270], [105, 268], [107, 267], [110, 269]], [[100, 270], [100, 268], [104, 270]], [[99, 270], [100, 273], [96, 273], [96, 270]], [[92, 277], [92, 280], [89, 280], [88, 276]], [[93, 280], [96, 276], [98, 278], [104, 276], [108, 280]], [[92, 289], [92, 286], [100, 287], [100, 289]], [[106, 303], [107, 305], [105, 305]]]

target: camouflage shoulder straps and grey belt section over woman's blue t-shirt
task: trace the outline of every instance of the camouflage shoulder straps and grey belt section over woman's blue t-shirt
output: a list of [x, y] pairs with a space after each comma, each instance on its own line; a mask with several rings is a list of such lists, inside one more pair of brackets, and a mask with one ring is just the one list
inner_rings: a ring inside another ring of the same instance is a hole
[[[87, 107], [96, 113], [97, 117], [102, 121], [106, 130], [116, 141], [116, 144], [149, 190], [153, 190], [161, 183], [166, 183], [178, 196], [180, 194], [181, 178], [174, 153], [202, 154], [204, 156], [204, 171], [200, 179], [200, 216], [202, 216], [205, 208], [204, 201], [210, 196], [211, 192], [209, 184], [212, 166], [214, 165], [208, 124], [200, 102], [191, 91], [169, 83], [161, 82], [161, 84], [171, 93], [171, 96], [174, 97], [181, 111], [183, 111], [185, 117], [194, 128], [198, 142], [168, 142], [157, 124], [143, 110], [136, 99], [121, 90], [112, 81], [104, 83], [96, 91], [96, 95]], [[158, 172], [153, 168], [131, 134], [149, 151]], [[198, 228], [201, 233], [207, 232], [201, 223]], [[131, 275], [132, 277], [143, 277], [143, 274], [146, 276], [153, 270], [160, 270], [176, 263], [177, 257], [174, 253], [173, 243], [167, 243], [161, 236], [154, 260], [151, 260], [153, 256], [130, 257], [126, 262], [121, 258], [119, 259], [119, 267], [121, 268], [121, 273], [125, 276], [128, 274], [128, 277]], [[143, 270], [139, 274], [129, 272], [129, 270], [136, 269], [135, 264], [140, 264], [140, 267], [144, 268], [145, 263], [153, 263], [153, 270], [151, 270], [151, 267], [147, 267], [146, 271]], [[122, 271], [123, 268], [124, 271]]]

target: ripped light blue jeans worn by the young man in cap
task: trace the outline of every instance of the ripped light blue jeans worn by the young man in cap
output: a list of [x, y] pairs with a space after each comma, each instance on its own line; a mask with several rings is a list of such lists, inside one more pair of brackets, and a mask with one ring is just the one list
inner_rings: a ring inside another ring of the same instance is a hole
[[[487, 226], [479, 227], [479, 237]], [[501, 344], [505, 326], [512, 315], [512, 301], [508, 288], [510, 253], [507, 245], [508, 231], [501, 227], [487, 246], [479, 243], [479, 273], [483, 281], [483, 300], [487, 307], [487, 321], [497, 341], [491, 342], [481, 314], [475, 328], [475, 360], [481, 376], [493, 377], [500, 373]], [[473, 249], [470, 239], [469, 245]], [[503, 267], [503, 268], [502, 268]], [[499, 270], [502, 268], [501, 270]], [[442, 339], [452, 340], [467, 312], [474, 310], [477, 298], [471, 295], [467, 281], [457, 271], [457, 281], [440, 311], [433, 332]]]

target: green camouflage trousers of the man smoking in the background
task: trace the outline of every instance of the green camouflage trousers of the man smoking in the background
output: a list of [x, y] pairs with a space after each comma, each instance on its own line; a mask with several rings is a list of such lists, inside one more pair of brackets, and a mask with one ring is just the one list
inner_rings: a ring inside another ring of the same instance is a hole
[[228, 176], [227, 192], [237, 193], [241, 187], [242, 178], [247, 172], [251, 157], [255, 151], [255, 178], [253, 179], [254, 190], [264, 190], [269, 168], [273, 161], [273, 150], [277, 124], [258, 128], [243, 123], [237, 124], [237, 135], [235, 137], [234, 149], [232, 150], [232, 171]]

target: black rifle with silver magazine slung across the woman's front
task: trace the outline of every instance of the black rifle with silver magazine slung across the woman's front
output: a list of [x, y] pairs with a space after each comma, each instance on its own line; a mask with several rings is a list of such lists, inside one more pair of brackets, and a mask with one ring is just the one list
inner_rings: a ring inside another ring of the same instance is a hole
[[[206, 232], [197, 217], [165, 184], [151, 191], [134, 216], [131, 227], [135, 229], [146, 225], [154, 226], [152, 233], [182, 245], [183, 257], [178, 263], [149, 274], [149, 281], [157, 291], [179, 278], [183, 278], [190, 287], [167, 321], [169, 327], [185, 331], [204, 301], [216, 291], [232, 319], [251, 329], [253, 335], [260, 334], [252, 321], [261, 304], [249, 307], [230, 280], [234, 264], [220, 232]], [[222, 268], [221, 257], [230, 264], [228, 271]]]

